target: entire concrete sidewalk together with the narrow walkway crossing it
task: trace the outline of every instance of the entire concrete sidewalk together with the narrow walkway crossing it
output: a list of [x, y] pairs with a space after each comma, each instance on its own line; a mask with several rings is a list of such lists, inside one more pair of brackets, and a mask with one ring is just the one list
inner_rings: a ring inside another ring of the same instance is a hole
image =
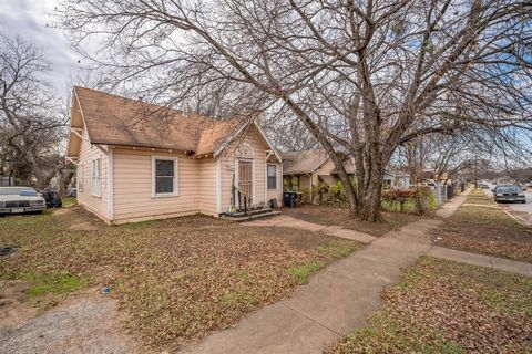
[[[437, 215], [451, 216], [466, 195], [447, 202]], [[216, 332], [180, 353], [323, 353], [350, 331], [364, 326], [367, 313], [380, 305], [382, 288], [397, 283], [401, 269], [416, 263], [422, 254], [532, 277], [532, 264], [432, 246], [429, 231], [441, 222], [420, 219], [381, 238], [286, 216], [246, 222], [321, 231], [369, 246], [313, 275], [290, 299], [265, 306], [235, 327]]]

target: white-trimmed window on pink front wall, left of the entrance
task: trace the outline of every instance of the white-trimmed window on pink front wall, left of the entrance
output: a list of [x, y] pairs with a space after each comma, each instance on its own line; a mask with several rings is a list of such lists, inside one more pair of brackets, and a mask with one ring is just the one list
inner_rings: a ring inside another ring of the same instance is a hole
[[152, 195], [177, 195], [177, 158], [152, 156]]

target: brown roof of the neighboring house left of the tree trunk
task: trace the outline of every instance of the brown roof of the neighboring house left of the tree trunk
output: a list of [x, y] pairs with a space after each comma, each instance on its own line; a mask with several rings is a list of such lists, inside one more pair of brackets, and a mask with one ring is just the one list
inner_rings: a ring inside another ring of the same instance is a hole
[[321, 167], [329, 156], [325, 149], [285, 152], [283, 157], [283, 175], [310, 174]]

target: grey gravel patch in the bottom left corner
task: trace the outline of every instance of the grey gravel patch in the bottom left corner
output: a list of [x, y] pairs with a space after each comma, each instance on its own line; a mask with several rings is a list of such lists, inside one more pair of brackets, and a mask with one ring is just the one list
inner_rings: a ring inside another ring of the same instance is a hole
[[17, 326], [0, 330], [0, 353], [135, 353], [116, 304], [102, 295], [72, 299]]

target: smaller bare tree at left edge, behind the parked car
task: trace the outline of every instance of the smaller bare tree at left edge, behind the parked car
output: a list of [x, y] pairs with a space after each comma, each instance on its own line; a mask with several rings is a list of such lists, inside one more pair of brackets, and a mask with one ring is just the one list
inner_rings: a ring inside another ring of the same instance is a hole
[[41, 173], [60, 162], [68, 115], [43, 80], [49, 70], [41, 49], [0, 35], [1, 173], [25, 183], [34, 177], [45, 185], [50, 173]]

